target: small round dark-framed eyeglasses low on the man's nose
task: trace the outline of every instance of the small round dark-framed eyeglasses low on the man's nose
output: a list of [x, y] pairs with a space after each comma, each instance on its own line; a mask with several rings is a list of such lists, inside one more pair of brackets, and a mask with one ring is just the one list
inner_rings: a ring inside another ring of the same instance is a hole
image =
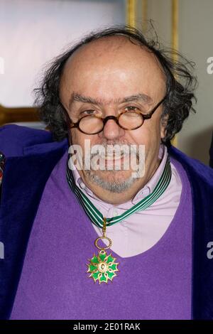
[[143, 125], [145, 119], [151, 119], [155, 110], [158, 109], [160, 104], [162, 104], [165, 101], [166, 97], [167, 96], [165, 95], [165, 97], [163, 97], [163, 99], [161, 99], [160, 102], [158, 102], [158, 104], [155, 105], [155, 107], [151, 110], [151, 112], [148, 112], [148, 114], [143, 114], [138, 110], [136, 111], [127, 110], [121, 112], [121, 114], [119, 114], [118, 116], [107, 116], [102, 118], [98, 115], [92, 114], [92, 115], [85, 115], [75, 123], [72, 122], [72, 120], [68, 116], [67, 120], [70, 123], [69, 125], [71, 129], [77, 128], [83, 134], [90, 134], [90, 135], [99, 134], [99, 132], [101, 132], [104, 129], [104, 126], [107, 123], [107, 121], [109, 121], [109, 119], [113, 119], [116, 122], [116, 124], [118, 124], [121, 127], [121, 129], [129, 131], [136, 130]]

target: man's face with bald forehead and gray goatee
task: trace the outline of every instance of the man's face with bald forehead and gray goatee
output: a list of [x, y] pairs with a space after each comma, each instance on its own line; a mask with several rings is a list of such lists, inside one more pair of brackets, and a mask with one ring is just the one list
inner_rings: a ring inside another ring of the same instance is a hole
[[[146, 114], [164, 96], [165, 77], [155, 56], [121, 36], [82, 46], [67, 61], [60, 82], [60, 99], [72, 122], [89, 114], [100, 117], [118, 116], [125, 111]], [[124, 193], [131, 197], [151, 178], [159, 164], [160, 138], [164, 136], [162, 111], [161, 104], [151, 119], [131, 131], [121, 129], [114, 119], [109, 119], [99, 134], [70, 129], [70, 141], [80, 145], [83, 153], [85, 139], [91, 147], [102, 144], [106, 149], [107, 145], [115, 144], [145, 146], [145, 173], [141, 178], [132, 178], [131, 168], [116, 170], [114, 156], [106, 159], [110, 170], [87, 171], [83, 166], [80, 176], [99, 197], [102, 191], [115, 199], [117, 194]], [[125, 154], [119, 159], [122, 166]]]

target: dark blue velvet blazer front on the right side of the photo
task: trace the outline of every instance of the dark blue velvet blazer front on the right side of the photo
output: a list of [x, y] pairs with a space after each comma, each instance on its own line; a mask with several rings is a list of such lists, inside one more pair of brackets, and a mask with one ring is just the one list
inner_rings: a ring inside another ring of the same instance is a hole
[[192, 190], [192, 319], [209, 320], [213, 319], [213, 259], [207, 257], [207, 244], [213, 241], [213, 171], [178, 149], [169, 151], [185, 168]]

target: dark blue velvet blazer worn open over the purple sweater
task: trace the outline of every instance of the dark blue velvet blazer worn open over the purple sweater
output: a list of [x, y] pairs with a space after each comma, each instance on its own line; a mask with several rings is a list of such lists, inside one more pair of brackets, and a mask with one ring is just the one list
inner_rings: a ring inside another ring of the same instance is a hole
[[[1, 319], [11, 314], [45, 183], [67, 149], [67, 139], [53, 141], [48, 131], [16, 125], [0, 128], [0, 151], [6, 156], [0, 206]], [[213, 170], [173, 146], [169, 153], [182, 163], [192, 188], [192, 319], [213, 319]]]

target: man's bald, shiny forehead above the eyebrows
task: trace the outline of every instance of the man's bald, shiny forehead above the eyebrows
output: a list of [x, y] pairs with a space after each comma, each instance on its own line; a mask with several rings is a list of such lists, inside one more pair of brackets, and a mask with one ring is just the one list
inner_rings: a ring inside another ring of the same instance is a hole
[[153, 53], [124, 36], [80, 47], [67, 60], [60, 82], [62, 97], [75, 91], [119, 99], [121, 93], [128, 96], [141, 90], [154, 95], [165, 90], [165, 75]]

